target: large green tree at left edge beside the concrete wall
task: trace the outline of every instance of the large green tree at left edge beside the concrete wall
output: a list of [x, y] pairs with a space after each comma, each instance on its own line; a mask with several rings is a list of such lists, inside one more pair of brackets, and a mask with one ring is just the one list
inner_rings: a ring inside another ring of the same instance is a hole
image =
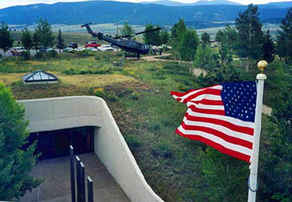
[[0, 201], [19, 199], [41, 183], [30, 176], [36, 163], [34, 144], [21, 149], [29, 136], [24, 115], [24, 107], [0, 83]]

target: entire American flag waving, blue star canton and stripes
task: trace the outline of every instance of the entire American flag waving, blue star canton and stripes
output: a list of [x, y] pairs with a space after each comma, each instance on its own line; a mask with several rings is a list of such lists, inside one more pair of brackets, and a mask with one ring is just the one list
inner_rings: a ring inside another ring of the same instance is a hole
[[176, 133], [203, 142], [221, 153], [250, 161], [256, 82], [225, 83], [186, 93], [172, 91], [171, 95], [188, 106]]

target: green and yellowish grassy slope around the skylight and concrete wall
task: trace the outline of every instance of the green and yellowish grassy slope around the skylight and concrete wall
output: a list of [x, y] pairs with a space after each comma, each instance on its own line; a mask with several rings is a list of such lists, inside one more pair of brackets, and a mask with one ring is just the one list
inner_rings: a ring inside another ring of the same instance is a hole
[[[0, 81], [11, 87], [18, 100], [93, 96], [96, 89], [102, 89], [106, 95], [104, 99], [137, 164], [155, 192], [170, 202], [208, 201], [202, 194], [208, 189], [204, 186], [199, 157], [203, 144], [175, 134], [175, 129], [186, 113], [186, 104], [170, 96], [170, 91], [201, 87], [198, 78], [188, 73], [188, 63], [124, 60], [123, 67], [114, 67], [113, 61], [121, 58], [115, 54], [97, 53], [92, 56], [60, 54], [52, 60], [28, 62], [16, 58], [4, 59], [0, 63]], [[110, 68], [112, 72], [64, 74], [70, 68], [74, 71]], [[256, 72], [246, 73], [243, 67], [236, 68], [246, 78], [252, 78]], [[60, 82], [53, 85], [24, 85], [21, 75], [35, 69], [54, 72]], [[266, 123], [264, 119], [263, 126]], [[263, 141], [268, 144], [269, 133], [265, 128], [263, 134]], [[242, 189], [247, 189], [245, 183]], [[246, 200], [243, 197], [241, 201]]]

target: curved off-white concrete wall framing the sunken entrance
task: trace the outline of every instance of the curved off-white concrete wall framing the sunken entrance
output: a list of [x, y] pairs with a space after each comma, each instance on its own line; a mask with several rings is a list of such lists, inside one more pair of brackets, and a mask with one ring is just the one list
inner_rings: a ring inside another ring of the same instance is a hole
[[74, 96], [18, 102], [25, 105], [25, 117], [30, 120], [30, 132], [96, 126], [95, 153], [128, 198], [135, 202], [163, 201], [144, 179], [109, 107], [102, 98]]

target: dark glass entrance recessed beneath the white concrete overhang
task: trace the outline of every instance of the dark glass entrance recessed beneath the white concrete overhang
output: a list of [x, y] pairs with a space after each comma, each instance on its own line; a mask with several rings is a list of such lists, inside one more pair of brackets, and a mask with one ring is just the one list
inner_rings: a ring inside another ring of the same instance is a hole
[[93, 133], [93, 126], [45, 131], [31, 133], [29, 142], [37, 140], [35, 153], [41, 154], [39, 160], [51, 159], [69, 155], [70, 144], [75, 154], [92, 152]]

